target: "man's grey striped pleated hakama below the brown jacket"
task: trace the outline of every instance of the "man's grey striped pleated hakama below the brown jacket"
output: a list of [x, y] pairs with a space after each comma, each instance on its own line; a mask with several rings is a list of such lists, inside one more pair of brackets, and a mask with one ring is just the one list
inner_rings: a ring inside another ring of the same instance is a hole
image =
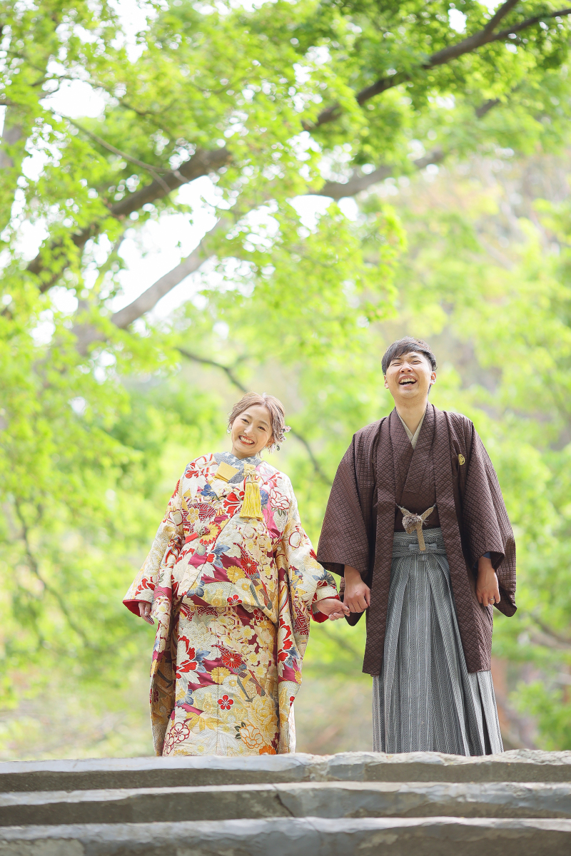
[[395, 532], [375, 752], [503, 752], [491, 672], [469, 673], [440, 528]]

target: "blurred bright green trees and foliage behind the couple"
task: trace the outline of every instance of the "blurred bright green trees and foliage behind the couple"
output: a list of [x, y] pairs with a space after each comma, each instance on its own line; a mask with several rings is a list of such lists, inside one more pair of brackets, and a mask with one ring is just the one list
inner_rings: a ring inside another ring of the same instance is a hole
[[[457, 6], [0, 12], [0, 758], [152, 752], [152, 628], [122, 597], [176, 479], [228, 448], [242, 389], [278, 395], [293, 431], [271, 460], [316, 544], [405, 334], [514, 525], [505, 745], [571, 749], [568, 22]], [[364, 633], [313, 624], [298, 751], [371, 748]]]

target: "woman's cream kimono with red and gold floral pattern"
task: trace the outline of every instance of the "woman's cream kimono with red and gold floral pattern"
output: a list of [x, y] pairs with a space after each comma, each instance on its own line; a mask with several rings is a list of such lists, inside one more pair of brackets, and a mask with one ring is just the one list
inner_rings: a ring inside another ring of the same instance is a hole
[[[237, 473], [224, 480], [220, 464]], [[263, 520], [241, 517], [245, 464], [250, 472], [255, 467]], [[123, 601], [135, 615], [140, 601], [152, 603], [158, 621], [155, 752], [294, 752], [292, 704], [309, 616], [324, 621], [313, 608], [336, 596], [300, 525], [286, 475], [257, 457], [222, 453], [191, 461]]]

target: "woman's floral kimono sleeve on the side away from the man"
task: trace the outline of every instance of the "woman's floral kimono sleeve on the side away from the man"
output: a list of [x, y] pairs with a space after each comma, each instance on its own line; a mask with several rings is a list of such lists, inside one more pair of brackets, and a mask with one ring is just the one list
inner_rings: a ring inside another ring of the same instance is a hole
[[140, 601], [152, 603], [159, 569], [164, 562], [176, 561], [183, 540], [181, 479], [179, 479], [175, 492], [170, 497], [163, 522], [158, 527], [155, 540], [152, 542], [149, 555], [123, 597], [123, 603], [134, 615], [139, 615]]

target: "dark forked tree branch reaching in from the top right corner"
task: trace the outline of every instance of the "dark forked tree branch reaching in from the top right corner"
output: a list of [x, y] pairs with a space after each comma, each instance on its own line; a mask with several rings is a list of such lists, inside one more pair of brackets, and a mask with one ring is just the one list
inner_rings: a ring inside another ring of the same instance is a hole
[[[514, 24], [512, 27], [507, 27], [499, 33], [494, 33], [493, 31], [497, 24], [499, 24], [500, 21], [503, 21], [503, 18], [508, 15], [517, 3], [519, 3], [519, 0], [508, 0], [507, 3], [503, 3], [503, 5], [497, 9], [496, 14], [491, 17], [490, 21], [488, 21], [484, 29], [480, 30], [479, 33], [474, 33], [472, 36], [467, 36], [466, 39], [462, 39], [455, 45], [449, 45], [448, 47], [443, 48], [442, 51], [437, 51], [428, 58], [427, 62], [421, 63], [419, 68], [423, 68], [425, 71], [428, 71], [431, 68], [436, 68], [438, 65], [444, 65], [453, 59], [457, 59], [459, 56], [477, 51], [478, 48], [483, 45], [490, 45], [492, 42], [508, 39], [511, 33], [520, 33], [522, 30], [532, 27], [534, 24], [538, 24], [539, 21], [571, 15], [571, 9], [559, 9], [556, 12], [549, 12], [544, 15], [534, 15], [532, 18], [527, 18], [526, 21], [520, 21], [519, 24]], [[379, 78], [372, 83], [371, 86], [366, 86], [356, 94], [355, 98], [357, 104], [362, 106], [366, 101], [369, 101], [376, 95], [380, 95], [381, 92], [386, 92], [387, 89], [392, 89], [394, 86], [406, 83], [408, 80], [412, 79], [412, 76], [413, 75], [410, 72], [397, 72], [390, 77]], [[331, 104], [330, 107], [322, 110], [316, 122], [313, 124], [306, 124], [306, 130], [312, 130], [313, 128], [318, 128], [319, 126], [324, 125], [326, 122], [333, 121], [337, 116], [339, 116], [340, 110], [341, 108], [339, 104]]]

